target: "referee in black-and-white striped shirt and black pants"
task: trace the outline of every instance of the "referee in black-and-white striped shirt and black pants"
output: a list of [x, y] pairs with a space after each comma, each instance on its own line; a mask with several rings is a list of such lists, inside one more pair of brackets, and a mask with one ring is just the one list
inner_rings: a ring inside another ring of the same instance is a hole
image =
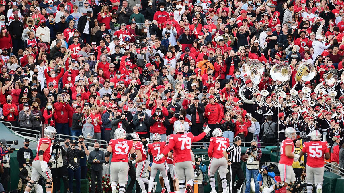
[[[241, 138], [239, 136], [236, 136], [234, 138], [234, 144], [229, 146], [223, 152], [223, 155], [228, 161], [228, 165], [230, 165], [228, 169], [229, 169], [230, 176], [232, 176], [231, 178], [229, 178], [230, 186], [228, 185], [230, 193], [237, 193], [245, 180], [244, 172], [240, 167], [240, 154], [241, 154], [240, 145], [241, 145]], [[227, 154], [229, 154], [229, 158]], [[238, 182], [234, 186], [235, 175], [237, 175], [238, 177]]]

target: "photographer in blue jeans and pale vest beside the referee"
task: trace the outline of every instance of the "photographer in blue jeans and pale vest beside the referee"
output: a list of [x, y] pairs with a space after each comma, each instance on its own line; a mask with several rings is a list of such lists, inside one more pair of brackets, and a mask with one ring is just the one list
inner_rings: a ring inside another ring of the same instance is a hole
[[259, 183], [257, 180], [259, 161], [261, 158], [261, 149], [257, 148], [257, 141], [251, 141], [251, 147], [246, 150], [246, 155], [248, 155], [246, 164], [246, 189], [245, 193], [249, 193], [251, 188], [251, 176], [255, 181], [255, 192], [259, 192]]

